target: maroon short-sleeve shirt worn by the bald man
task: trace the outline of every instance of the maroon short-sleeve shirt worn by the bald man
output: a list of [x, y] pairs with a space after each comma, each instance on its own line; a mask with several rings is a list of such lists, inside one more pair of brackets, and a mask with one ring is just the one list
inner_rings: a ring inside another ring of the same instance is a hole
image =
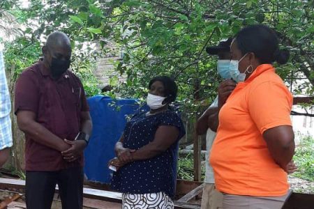
[[[89, 111], [80, 79], [66, 71], [58, 80], [52, 79], [43, 61], [22, 72], [15, 85], [15, 114], [33, 111], [36, 121], [56, 134], [60, 140], [74, 140], [81, 130], [80, 113]], [[82, 166], [63, 160], [61, 153], [33, 141], [27, 134], [25, 146], [26, 171], [59, 171]]]

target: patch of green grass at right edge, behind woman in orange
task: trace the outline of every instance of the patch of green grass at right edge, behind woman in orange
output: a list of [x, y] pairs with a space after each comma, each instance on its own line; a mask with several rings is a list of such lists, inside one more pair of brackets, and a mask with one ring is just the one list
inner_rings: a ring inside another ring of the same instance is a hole
[[299, 167], [293, 176], [314, 181], [314, 138], [306, 136], [301, 139], [301, 144], [296, 149], [294, 162]]

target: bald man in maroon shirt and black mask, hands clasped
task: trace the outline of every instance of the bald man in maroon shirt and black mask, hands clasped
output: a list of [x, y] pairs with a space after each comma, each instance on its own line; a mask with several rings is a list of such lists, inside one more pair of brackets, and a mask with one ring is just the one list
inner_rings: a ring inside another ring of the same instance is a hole
[[58, 184], [62, 208], [78, 209], [83, 150], [92, 129], [89, 107], [80, 79], [68, 70], [68, 36], [50, 34], [43, 55], [22, 72], [15, 88], [17, 124], [26, 137], [27, 208], [51, 208]]

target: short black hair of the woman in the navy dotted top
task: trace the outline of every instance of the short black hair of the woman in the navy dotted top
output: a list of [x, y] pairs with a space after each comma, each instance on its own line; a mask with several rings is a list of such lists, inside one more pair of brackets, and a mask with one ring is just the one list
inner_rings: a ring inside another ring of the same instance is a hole
[[149, 89], [151, 89], [151, 85], [154, 84], [154, 82], [162, 82], [163, 86], [165, 88], [165, 100], [164, 102], [170, 103], [174, 102], [177, 98], [177, 93], [178, 93], [178, 86], [176, 82], [170, 77], [167, 77], [165, 75], [163, 76], [157, 76], [151, 79], [149, 82]]

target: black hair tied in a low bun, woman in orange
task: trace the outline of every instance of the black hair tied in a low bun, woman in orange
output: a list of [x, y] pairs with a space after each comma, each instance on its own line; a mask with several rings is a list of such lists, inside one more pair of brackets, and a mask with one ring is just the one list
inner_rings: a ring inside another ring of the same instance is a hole
[[246, 26], [234, 39], [242, 55], [253, 52], [261, 64], [274, 61], [285, 64], [289, 59], [289, 51], [279, 49], [275, 31], [264, 24]]

